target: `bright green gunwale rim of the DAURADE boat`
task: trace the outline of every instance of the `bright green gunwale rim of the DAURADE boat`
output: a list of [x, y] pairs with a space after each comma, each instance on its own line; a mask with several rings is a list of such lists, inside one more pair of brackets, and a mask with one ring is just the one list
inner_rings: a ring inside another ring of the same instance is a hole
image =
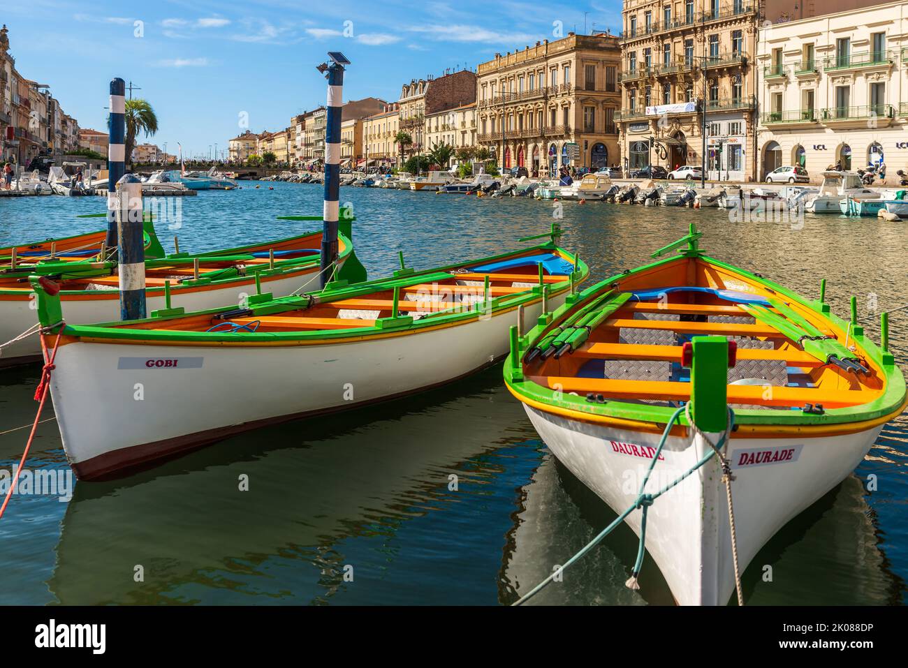
[[[630, 276], [640, 276], [648, 270], [661, 269], [672, 262], [684, 262], [689, 260], [703, 260], [708, 264], [715, 265], [718, 268], [731, 271], [751, 280], [756, 284], [773, 290], [776, 294], [783, 295], [786, 299], [793, 300], [805, 309], [809, 309], [814, 314], [828, 321], [834, 328], [844, 332], [850, 327], [850, 323], [836, 316], [832, 311], [823, 312], [821, 304], [817, 300], [807, 300], [793, 290], [785, 288], [772, 280], [767, 280], [755, 273], [735, 267], [722, 260], [716, 260], [705, 253], [697, 252], [689, 254], [686, 251], [679, 251], [678, 255], [670, 256], [662, 260], [656, 260], [646, 265], [637, 267], [634, 270], [628, 270], [615, 276], [601, 280], [594, 285], [583, 290], [577, 300], [572, 303], [565, 303], [552, 314], [552, 318], [545, 325], [538, 325], [530, 330], [527, 336], [521, 341], [521, 349], [528, 349], [529, 346], [540, 340], [549, 327], [558, 323], [574, 309], [582, 308], [585, 303], [595, 299], [598, 295], [607, 290], [611, 290], [613, 284], [618, 280], [625, 280]], [[778, 427], [778, 431], [785, 432], [786, 428], [795, 426], [820, 427], [842, 425], [844, 423], [866, 423], [868, 421], [878, 422], [880, 424], [900, 415], [904, 408], [908, 406], [908, 395], [906, 395], [905, 379], [898, 365], [893, 363], [883, 363], [883, 350], [869, 337], [864, 334], [854, 335], [852, 339], [855, 344], [859, 345], [869, 359], [873, 361], [877, 372], [885, 383], [885, 387], [873, 400], [864, 404], [843, 408], [827, 408], [822, 415], [813, 413], [796, 412], [788, 409], [735, 409], [735, 436], [753, 435], [754, 437], [765, 437], [768, 432], [773, 431], [773, 427]], [[668, 419], [676, 410], [671, 407], [653, 406], [649, 404], [635, 404], [619, 399], [609, 399], [606, 404], [591, 404], [585, 397], [572, 395], [567, 392], [558, 392], [555, 389], [538, 384], [533, 378], [523, 378], [523, 360], [520, 359], [517, 368], [521, 371], [521, 378], [514, 378], [513, 365], [510, 355], [505, 362], [504, 379], [508, 390], [521, 402], [538, 408], [544, 412], [557, 414], [562, 417], [568, 417], [586, 422], [612, 422], [614, 424], [624, 423], [625, 427], [639, 431], [655, 431], [665, 427]], [[685, 416], [679, 418], [682, 425], [687, 425]], [[676, 427], [678, 428], [678, 427]], [[745, 434], [746, 432], [746, 434]], [[794, 433], [807, 433], [804, 429], [798, 429]], [[790, 435], [785, 433], [785, 435]]]

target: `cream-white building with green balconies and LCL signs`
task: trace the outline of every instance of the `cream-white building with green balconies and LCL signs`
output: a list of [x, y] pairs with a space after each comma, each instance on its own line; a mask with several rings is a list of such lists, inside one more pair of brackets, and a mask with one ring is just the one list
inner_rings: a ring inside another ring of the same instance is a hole
[[[834, 7], [835, 5], [830, 5]], [[908, 169], [908, 3], [884, 3], [760, 30], [760, 176], [783, 165]]]

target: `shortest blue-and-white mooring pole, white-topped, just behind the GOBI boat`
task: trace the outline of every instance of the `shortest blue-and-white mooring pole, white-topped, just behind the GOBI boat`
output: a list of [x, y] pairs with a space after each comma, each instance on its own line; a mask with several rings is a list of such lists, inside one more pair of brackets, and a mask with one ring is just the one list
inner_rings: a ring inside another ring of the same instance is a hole
[[[122, 81], [122, 80], [121, 80]], [[132, 174], [117, 182], [116, 228], [119, 239], [120, 319], [145, 317], [145, 244], [142, 183]]]

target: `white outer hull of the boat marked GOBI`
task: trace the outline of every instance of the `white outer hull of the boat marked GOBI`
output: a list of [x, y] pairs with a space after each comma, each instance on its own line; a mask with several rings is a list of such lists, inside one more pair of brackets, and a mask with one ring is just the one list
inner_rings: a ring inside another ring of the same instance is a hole
[[[536, 319], [541, 301], [525, 309]], [[517, 313], [349, 342], [244, 347], [242, 356], [230, 346], [69, 343], [51, 380], [64, 450], [80, 479], [112, 477], [267, 423], [436, 387], [503, 358]], [[86, 419], [100, 406], [104, 419]]]

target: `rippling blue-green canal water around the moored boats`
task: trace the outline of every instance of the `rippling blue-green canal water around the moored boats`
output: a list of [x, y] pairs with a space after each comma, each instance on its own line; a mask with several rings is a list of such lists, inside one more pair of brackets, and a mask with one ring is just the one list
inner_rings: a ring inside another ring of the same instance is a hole
[[[291, 236], [311, 223], [277, 216], [321, 213], [319, 186], [255, 186], [173, 201], [181, 221], [159, 221], [165, 247], [173, 235], [192, 251]], [[808, 297], [827, 279], [839, 314], [853, 294], [862, 316], [908, 303], [905, 223], [808, 214], [793, 225], [731, 221], [719, 210], [560, 209], [357, 188], [342, 189], [341, 201], [357, 217], [370, 277], [396, 269], [398, 251], [428, 268], [519, 247], [560, 215], [562, 245], [597, 280], [644, 263], [696, 221], [716, 258]], [[75, 216], [100, 211], [101, 198], [0, 199], [0, 246], [96, 229], [96, 219]], [[865, 323], [874, 339], [877, 320]], [[908, 368], [908, 310], [893, 314], [891, 332]], [[34, 417], [39, 371], [0, 372], [0, 432]], [[26, 437], [0, 433], [0, 470], [15, 466]], [[68, 470], [53, 420], [39, 427], [28, 467]], [[248, 492], [238, 491], [243, 474]], [[906, 499], [903, 415], [854, 475], [755, 557], [746, 601], [904, 604]], [[75, 483], [69, 498], [14, 496], [0, 520], [0, 604], [508, 604], [612, 519], [548, 452], [498, 366], [415, 397], [232, 437], [123, 480]], [[636, 553], [622, 526], [534, 603], [671, 604], [650, 559], [640, 591], [624, 587]]]

